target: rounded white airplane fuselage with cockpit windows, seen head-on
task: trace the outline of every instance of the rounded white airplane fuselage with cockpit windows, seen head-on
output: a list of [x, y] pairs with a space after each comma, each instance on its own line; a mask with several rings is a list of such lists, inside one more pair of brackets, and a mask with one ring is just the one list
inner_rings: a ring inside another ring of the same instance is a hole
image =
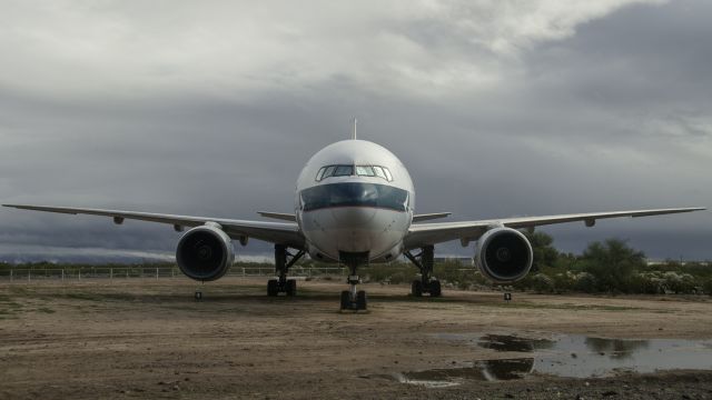
[[413, 181], [400, 160], [365, 140], [327, 146], [297, 179], [295, 214], [315, 260], [339, 261], [347, 253], [368, 262], [396, 259], [414, 208]]

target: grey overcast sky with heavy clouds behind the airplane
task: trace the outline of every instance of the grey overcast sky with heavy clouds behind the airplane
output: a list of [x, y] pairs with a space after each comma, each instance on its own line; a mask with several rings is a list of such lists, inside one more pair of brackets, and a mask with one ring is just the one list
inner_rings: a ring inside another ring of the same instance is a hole
[[[710, 1], [0, 4], [3, 203], [291, 212], [299, 170], [356, 116], [359, 138], [409, 169], [418, 212], [712, 206]], [[616, 237], [651, 258], [712, 259], [711, 222], [544, 230], [566, 251]], [[38, 247], [165, 254], [178, 238], [0, 210], [10, 261]]]

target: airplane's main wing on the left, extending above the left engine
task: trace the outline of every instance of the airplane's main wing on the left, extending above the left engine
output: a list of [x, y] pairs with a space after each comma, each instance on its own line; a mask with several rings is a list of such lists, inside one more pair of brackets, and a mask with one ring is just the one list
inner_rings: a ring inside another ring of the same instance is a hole
[[216, 222], [222, 227], [225, 233], [230, 238], [237, 240], [245, 240], [246, 238], [254, 238], [273, 243], [279, 243], [289, 246], [295, 249], [304, 249], [305, 239], [296, 223], [287, 222], [264, 222], [264, 221], [244, 221], [231, 220], [224, 218], [208, 218], [208, 217], [190, 217], [190, 216], [174, 216], [174, 214], [160, 214], [149, 212], [134, 212], [134, 211], [120, 211], [120, 210], [101, 210], [101, 209], [85, 209], [85, 208], [70, 208], [70, 207], [46, 207], [46, 206], [26, 206], [26, 204], [2, 204], [3, 207], [12, 207], [22, 210], [33, 211], [47, 211], [59, 212], [68, 214], [88, 214], [88, 216], [103, 216], [113, 218], [115, 223], [123, 223], [125, 219], [159, 222], [172, 224], [177, 231], [182, 230], [184, 227], [198, 227], [206, 222]]

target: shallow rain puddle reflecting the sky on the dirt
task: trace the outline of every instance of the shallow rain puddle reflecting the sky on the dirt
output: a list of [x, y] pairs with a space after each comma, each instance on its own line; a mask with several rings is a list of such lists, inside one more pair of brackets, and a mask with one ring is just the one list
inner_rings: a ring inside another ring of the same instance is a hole
[[[674, 369], [712, 369], [712, 340], [605, 339], [580, 334], [533, 339], [506, 334], [435, 334], [492, 350], [492, 359], [452, 369], [404, 372], [404, 383], [431, 388], [465, 380], [504, 381], [532, 373], [568, 378], [607, 377], [616, 372], [647, 373]], [[505, 358], [497, 358], [506, 352]], [[520, 354], [517, 354], [520, 353]]]

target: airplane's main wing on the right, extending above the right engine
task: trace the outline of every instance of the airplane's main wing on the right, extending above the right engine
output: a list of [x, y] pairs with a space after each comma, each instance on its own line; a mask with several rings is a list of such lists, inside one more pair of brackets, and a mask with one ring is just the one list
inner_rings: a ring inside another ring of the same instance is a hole
[[586, 227], [593, 227], [596, 220], [604, 218], [649, 217], [699, 210], [705, 210], [705, 208], [694, 207], [656, 210], [590, 212], [544, 217], [516, 217], [465, 222], [414, 223], [411, 226], [408, 234], [405, 237], [405, 248], [415, 249], [457, 239], [461, 240], [463, 246], [467, 246], [468, 242], [479, 239], [479, 237], [488, 229], [500, 226], [513, 229], [523, 229], [553, 223], [583, 221], [585, 222]]

